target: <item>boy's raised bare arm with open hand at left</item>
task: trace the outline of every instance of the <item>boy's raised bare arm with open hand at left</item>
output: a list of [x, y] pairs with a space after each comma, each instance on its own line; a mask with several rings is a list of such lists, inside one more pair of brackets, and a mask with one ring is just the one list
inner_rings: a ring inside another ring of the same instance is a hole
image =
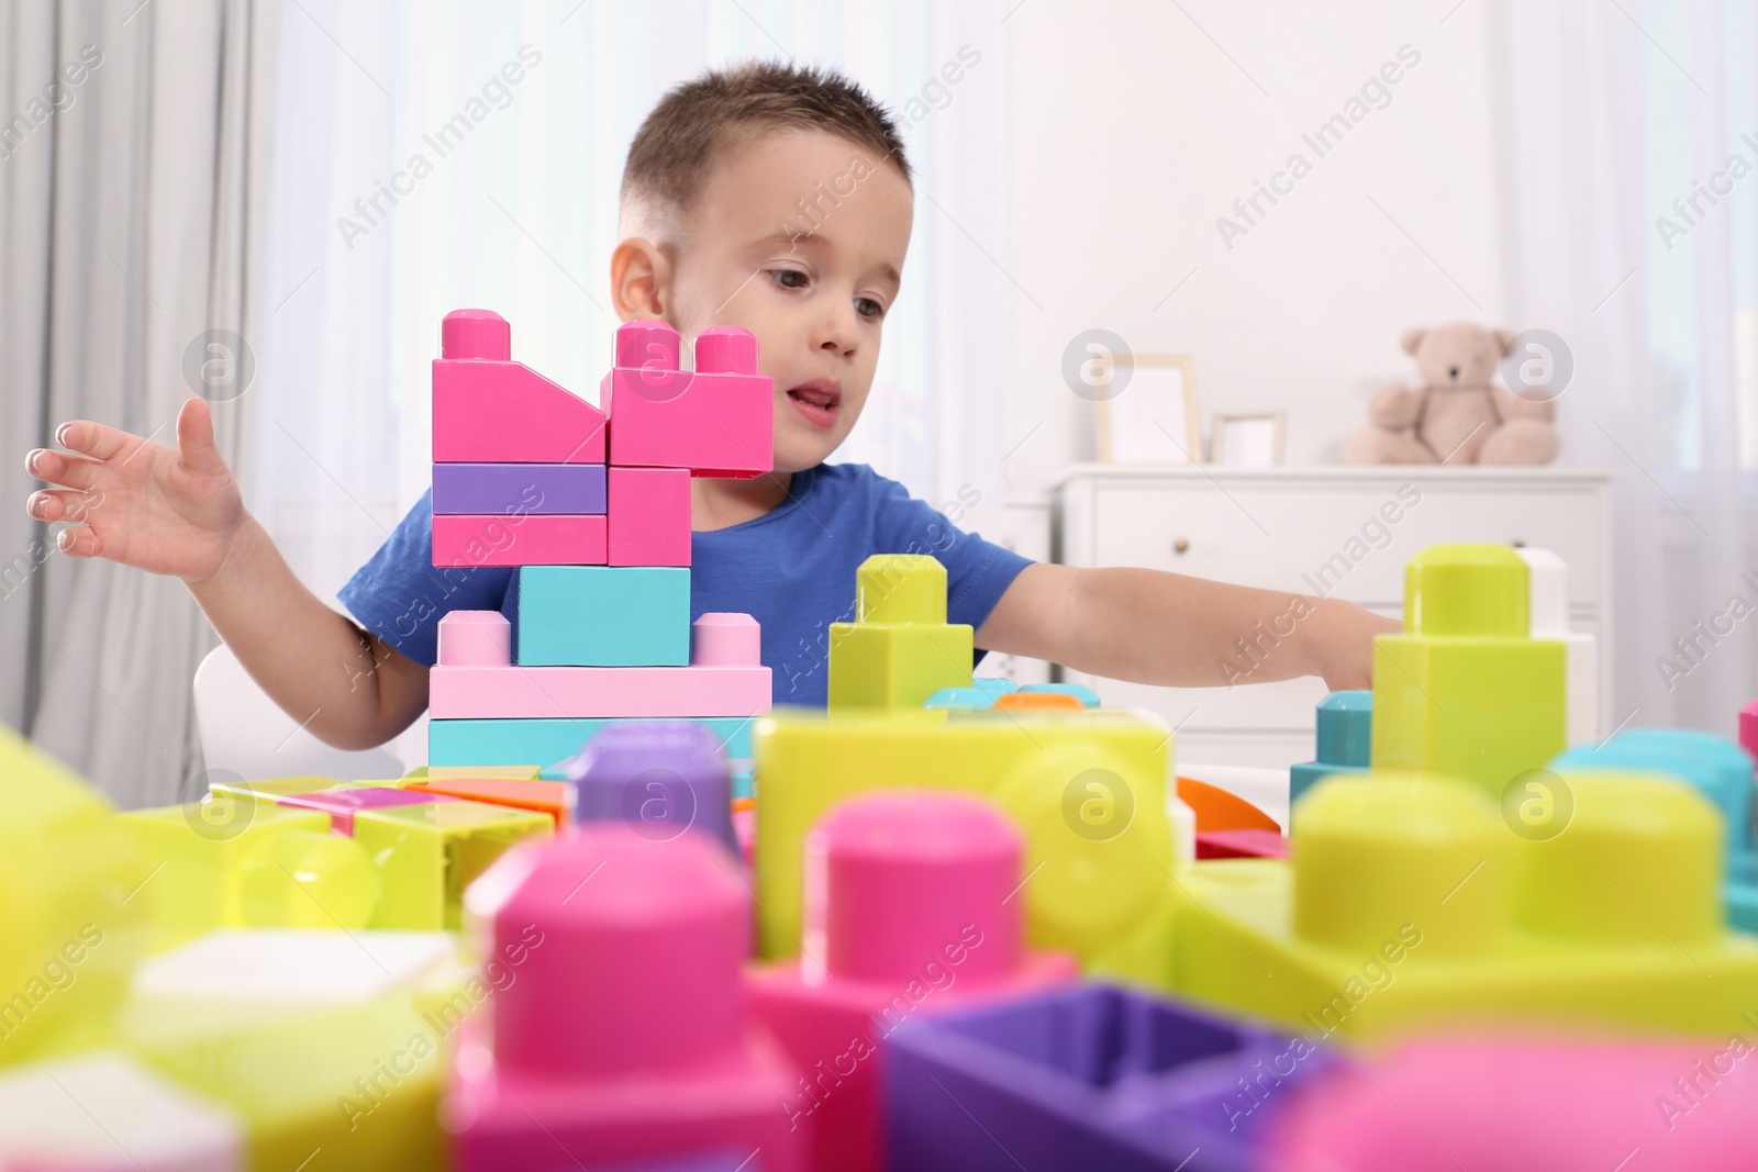
[[86, 420], [54, 438], [69, 452], [25, 457], [54, 485], [26, 511], [70, 522], [62, 552], [183, 578], [251, 678], [315, 736], [369, 749], [427, 706], [427, 668], [318, 601], [244, 510], [204, 399], [183, 404], [174, 448]]

